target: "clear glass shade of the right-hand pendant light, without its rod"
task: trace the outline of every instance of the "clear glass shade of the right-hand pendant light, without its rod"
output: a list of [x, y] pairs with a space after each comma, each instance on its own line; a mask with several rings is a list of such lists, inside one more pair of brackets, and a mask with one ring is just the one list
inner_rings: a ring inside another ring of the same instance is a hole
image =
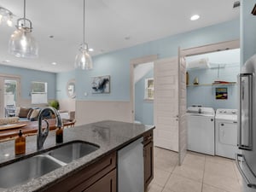
[[81, 68], [83, 70], [92, 69], [92, 61], [87, 44], [84, 44], [84, 46], [79, 49], [79, 54], [76, 55], [75, 59], [75, 68]]

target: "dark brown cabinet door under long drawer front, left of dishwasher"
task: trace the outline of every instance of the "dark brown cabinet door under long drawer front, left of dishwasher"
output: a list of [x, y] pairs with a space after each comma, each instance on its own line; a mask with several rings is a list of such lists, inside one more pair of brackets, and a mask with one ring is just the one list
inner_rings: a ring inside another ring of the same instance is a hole
[[84, 192], [116, 192], [116, 169], [85, 189]]

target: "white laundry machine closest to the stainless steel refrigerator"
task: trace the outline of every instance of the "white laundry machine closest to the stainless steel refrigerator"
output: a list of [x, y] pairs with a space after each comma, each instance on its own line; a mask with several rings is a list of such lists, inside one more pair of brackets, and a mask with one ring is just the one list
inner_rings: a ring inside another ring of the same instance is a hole
[[235, 159], [237, 148], [237, 110], [218, 108], [215, 115], [215, 154]]

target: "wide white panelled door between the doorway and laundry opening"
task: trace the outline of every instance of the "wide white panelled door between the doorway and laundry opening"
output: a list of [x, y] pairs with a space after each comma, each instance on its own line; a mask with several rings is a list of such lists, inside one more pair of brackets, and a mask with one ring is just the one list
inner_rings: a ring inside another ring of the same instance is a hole
[[154, 145], [178, 151], [177, 57], [154, 61]]

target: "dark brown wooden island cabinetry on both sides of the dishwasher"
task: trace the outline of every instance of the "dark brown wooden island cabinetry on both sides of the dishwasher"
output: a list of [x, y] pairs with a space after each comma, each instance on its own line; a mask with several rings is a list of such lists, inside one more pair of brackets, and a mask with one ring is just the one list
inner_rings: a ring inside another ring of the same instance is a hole
[[[153, 131], [143, 134], [144, 188], [154, 177]], [[117, 154], [113, 152], [41, 189], [47, 192], [117, 192]], [[119, 191], [121, 192], [121, 191]]]

